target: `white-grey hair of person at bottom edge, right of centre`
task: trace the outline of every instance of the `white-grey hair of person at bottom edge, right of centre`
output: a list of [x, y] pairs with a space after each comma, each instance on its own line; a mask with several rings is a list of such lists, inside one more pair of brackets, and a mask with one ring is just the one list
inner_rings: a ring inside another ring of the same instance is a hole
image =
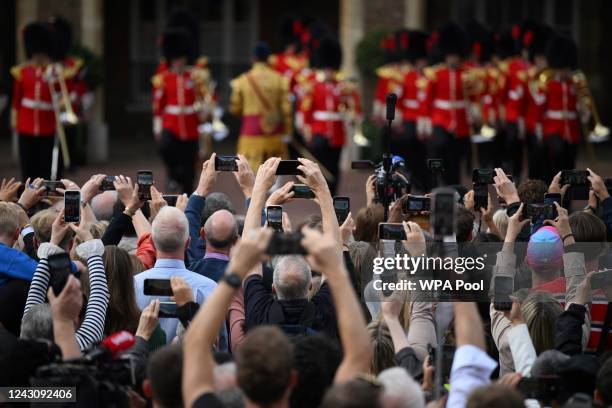
[[423, 391], [406, 369], [387, 368], [378, 374], [378, 381], [384, 386], [383, 402], [398, 408], [425, 408]]

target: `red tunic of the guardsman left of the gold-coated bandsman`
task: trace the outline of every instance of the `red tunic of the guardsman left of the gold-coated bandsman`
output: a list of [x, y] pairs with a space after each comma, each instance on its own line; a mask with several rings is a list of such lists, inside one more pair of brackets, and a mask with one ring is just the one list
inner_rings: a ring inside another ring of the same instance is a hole
[[162, 128], [179, 140], [199, 137], [195, 86], [189, 68], [181, 73], [166, 70], [153, 77], [153, 114], [161, 117]]

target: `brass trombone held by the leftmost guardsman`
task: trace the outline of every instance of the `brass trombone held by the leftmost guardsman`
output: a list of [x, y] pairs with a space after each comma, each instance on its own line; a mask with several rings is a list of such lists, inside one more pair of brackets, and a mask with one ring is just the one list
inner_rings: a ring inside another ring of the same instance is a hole
[[[79, 119], [72, 110], [72, 103], [70, 102], [70, 95], [66, 87], [61, 63], [49, 64], [45, 71], [45, 79], [49, 84], [49, 92], [51, 93], [53, 111], [55, 113], [56, 137], [51, 158], [51, 180], [55, 180], [57, 178], [60, 150], [64, 161], [64, 169], [68, 170], [70, 168], [70, 152], [68, 151], [64, 125], [76, 125]], [[59, 94], [55, 87], [56, 83], [59, 83], [60, 86]]]

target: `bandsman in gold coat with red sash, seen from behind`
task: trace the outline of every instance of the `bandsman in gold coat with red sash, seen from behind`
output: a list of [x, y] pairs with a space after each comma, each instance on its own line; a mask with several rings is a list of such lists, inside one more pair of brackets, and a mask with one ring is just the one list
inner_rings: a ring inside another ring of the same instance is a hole
[[236, 150], [257, 170], [270, 157], [288, 157], [283, 137], [293, 127], [288, 83], [268, 65], [270, 48], [257, 44], [253, 57], [253, 67], [231, 82], [229, 111], [242, 119]]

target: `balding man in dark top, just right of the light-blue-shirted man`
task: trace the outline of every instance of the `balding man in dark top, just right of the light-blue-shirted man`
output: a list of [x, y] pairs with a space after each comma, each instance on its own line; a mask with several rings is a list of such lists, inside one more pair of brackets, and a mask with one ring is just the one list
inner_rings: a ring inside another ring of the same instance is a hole
[[189, 269], [215, 282], [225, 273], [230, 250], [238, 239], [238, 227], [234, 215], [227, 210], [213, 213], [200, 229], [206, 242], [206, 254], [189, 265]]

